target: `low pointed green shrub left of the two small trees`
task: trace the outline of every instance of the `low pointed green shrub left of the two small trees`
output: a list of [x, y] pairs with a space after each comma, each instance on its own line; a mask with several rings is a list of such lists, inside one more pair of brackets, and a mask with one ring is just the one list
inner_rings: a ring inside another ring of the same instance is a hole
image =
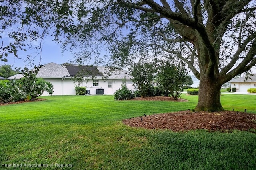
[[129, 90], [126, 87], [125, 82], [123, 82], [121, 89], [118, 89], [116, 92], [114, 92], [114, 100], [129, 100], [133, 98], [134, 94], [132, 90]]

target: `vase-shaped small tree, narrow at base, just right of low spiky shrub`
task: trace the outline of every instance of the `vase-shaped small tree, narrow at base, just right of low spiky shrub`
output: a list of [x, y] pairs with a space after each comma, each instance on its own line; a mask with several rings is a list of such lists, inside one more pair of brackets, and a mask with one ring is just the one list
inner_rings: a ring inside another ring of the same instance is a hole
[[130, 74], [132, 76], [131, 80], [134, 83], [134, 86], [139, 90], [142, 98], [145, 98], [148, 94], [155, 77], [155, 72], [156, 69], [154, 63], [146, 63], [142, 60], [130, 68]]

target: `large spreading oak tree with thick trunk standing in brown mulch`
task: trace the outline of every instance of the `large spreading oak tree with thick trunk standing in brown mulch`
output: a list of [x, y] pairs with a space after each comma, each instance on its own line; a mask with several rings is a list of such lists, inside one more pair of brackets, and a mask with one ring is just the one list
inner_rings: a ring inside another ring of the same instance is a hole
[[[86, 18], [86, 22], [78, 25], [80, 29], [74, 31], [73, 38], [80, 39], [77, 45], [81, 47], [94, 47], [94, 51], [98, 48], [98, 53], [102, 45], [107, 46], [110, 59], [119, 66], [136, 57], [181, 59], [200, 79], [195, 110], [222, 111], [222, 84], [256, 64], [255, 3], [251, 0], [97, 1], [83, 6], [78, 20]], [[82, 58], [89, 56], [84, 54]]]

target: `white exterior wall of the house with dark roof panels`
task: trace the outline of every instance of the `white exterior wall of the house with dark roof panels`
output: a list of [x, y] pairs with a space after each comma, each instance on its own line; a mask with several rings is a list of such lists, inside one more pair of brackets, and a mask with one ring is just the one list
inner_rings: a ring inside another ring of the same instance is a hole
[[[44, 80], [52, 83], [54, 85], [54, 93], [53, 95], [75, 95], [75, 85], [72, 79], [65, 78], [44, 78]], [[103, 88], [104, 94], [114, 94], [116, 90], [121, 88], [122, 80], [99, 80], [98, 86], [93, 86], [93, 81], [91, 79], [84, 80], [80, 86], [86, 87], [86, 90], [90, 90], [90, 94], [96, 94], [97, 88]], [[111, 82], [111, 87], [108, 87], [109, 82]], [[133, 90], [132, 81], [126, 80], [126, 85], [129, 89]], [[47, 92], [44, 92], [42, 96], [47, 96]]]

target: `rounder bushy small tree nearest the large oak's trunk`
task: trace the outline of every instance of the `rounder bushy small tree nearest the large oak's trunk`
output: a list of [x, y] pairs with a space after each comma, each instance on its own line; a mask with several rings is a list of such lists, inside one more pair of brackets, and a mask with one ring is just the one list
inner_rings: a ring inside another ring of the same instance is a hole
[[157, 80], [164, 88], [164, 96], [171, 95], [173, 99], [178, 99], [189, 77], [182, 65], [170, 62], [160, 63]]

